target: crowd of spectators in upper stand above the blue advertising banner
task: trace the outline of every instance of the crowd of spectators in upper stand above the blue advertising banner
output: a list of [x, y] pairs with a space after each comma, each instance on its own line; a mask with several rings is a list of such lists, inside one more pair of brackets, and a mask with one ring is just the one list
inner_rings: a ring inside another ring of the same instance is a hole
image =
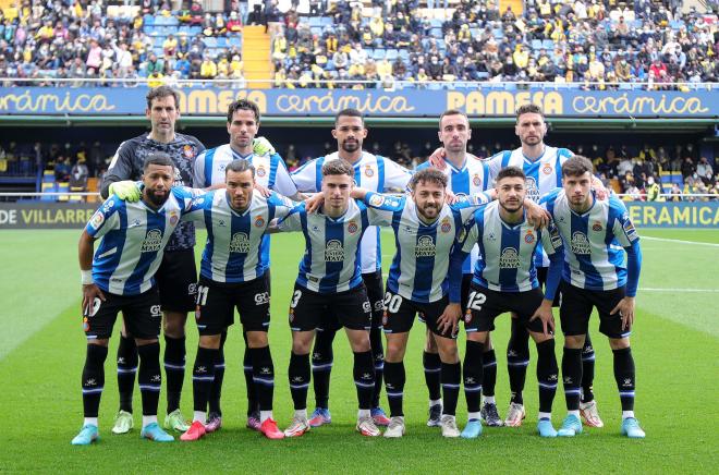
[[222, 12], [196, 0], [175, 11], [168, 0], [11, 0], [0, 12], [0, 76], [244, 87], [245, 24], [282, 25], [271, 29], [280, 87], [492, 81], [662, 89], [719, 74], [716, 14], [682, 13], [677, 0], [527, 0], [522, 14], [500, 11], [497, 0], [308, 1], [309, 15], [297, 14], [297, 0], [285, 12], [277, 0], [252, 12], [247, 0], [228, 0]]

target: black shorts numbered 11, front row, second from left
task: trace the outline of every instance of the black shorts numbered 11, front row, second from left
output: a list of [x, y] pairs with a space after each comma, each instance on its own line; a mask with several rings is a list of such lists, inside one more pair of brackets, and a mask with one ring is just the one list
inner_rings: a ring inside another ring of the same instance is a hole
[[199, 278], [195, 320], [199, 334], [220, 334], [234, 324], [234, 309], [240, 313], [244, 331], [267, 331], [270, 324], [267, 278], [241, 283], [215, 282]]

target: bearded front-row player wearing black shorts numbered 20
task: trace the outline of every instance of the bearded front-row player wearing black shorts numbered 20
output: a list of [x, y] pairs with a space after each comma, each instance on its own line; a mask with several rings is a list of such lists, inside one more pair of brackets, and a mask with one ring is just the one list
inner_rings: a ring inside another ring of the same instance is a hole
[[[460, 392], [461, 367], [456, 350], [456, 325], [462, 314], [460, 295], [448, 296], [450, 252], [463, 222], [476, 207], [466, 203], [447, 205], [447, 176], [435, 169], [414, 174], [412, 198], [394, 198], [357, 188], [355, 197], [379, 210], [380, 224], [392, 227], [397, 254], [392, 258], [385, 296], [383, 328], [387, 336], [385, 382], [390, 404], [390, 424], [385, 437], [402, 437], [405, 382], [404, 353], [417, 313], [424, 314], [434, 333], [441, 360], [444, 404], [440, 418], [443, 437], [459, 437], [454, 412]], [[486, 202], [483, 196], [483, 200]], [[456, 263], [456, 275], [462, 272]]]

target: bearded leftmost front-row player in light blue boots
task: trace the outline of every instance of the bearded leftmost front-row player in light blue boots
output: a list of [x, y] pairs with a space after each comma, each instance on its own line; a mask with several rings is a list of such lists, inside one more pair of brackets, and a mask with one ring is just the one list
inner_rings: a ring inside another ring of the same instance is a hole
[[[148, 155], [143, 170], [142, 200], [127, 203], [111, 196], [93, 216], [80, 239], [87, 355], [82, 381], [85, 423], [72, 440], [77, 446], [89, 444], [99, 437], [97, 416], [105, 386], [105, 360], [118, 312], [123, 313], [139, 354], [141, 436], [159, 442], [174, 440], [157, 424], [162, 374], [157, 340], [160, 296], [154, 275], [191, 195], [171, 190], [174, 167], [169, 156]], [[94, 242], [100, 238], [93, 257]]]

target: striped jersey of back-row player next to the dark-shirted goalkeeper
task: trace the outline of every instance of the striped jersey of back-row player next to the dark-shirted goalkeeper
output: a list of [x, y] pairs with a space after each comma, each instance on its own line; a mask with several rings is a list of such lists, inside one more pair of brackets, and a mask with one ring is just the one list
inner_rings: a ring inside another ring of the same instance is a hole
[[[211, 185], [224, 183], [224, 168], [232, 160], [249, 160], [255, 167], [255, 181], [266, 188], [276, 191], [280, 195], [294, 196], [297, 187], [290, 178], [284, 160], [278, 154], [242, 156], [234, 151], [230, 144], [220, 145], [203, 151], [195, 160], [195, 186], [206, 188]], [[265, 269], [269, 268], [270, 236], [265, 235], [261, 244], [263, 263]]]

